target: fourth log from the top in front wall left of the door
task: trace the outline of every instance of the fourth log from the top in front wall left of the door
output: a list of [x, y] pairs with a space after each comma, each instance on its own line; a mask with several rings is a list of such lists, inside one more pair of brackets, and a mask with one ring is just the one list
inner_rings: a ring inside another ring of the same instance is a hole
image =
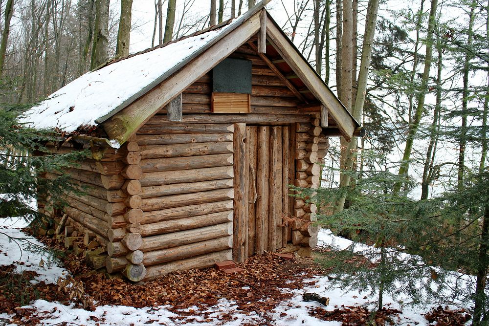
[[141, 160], [141, 169], [144, 173], [211, 168], [233, 164], [233, 154], [211, 154], [205, 156], [183, 156], [152, 158]]

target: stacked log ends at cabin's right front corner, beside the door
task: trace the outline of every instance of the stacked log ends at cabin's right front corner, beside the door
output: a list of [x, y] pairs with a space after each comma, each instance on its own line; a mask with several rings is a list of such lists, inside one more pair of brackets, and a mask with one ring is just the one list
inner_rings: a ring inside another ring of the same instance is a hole
[[[321, 174], [321, 161], [325, 154], [325, 143], [328, 138], [321, 135], [319, 119], [313, 118], [311, 123], [297, 123], [295, 133], [296, 175], [295, 186], [317, 189]], [[321, 147], [321, 149], [320, 149]], [[326, 147], [327, 151], [327, 147]], [[313, 225], [317, 221], [317, 207], [308, 203], [308, 198], [294, 199], [294, 212], [291, 222], [292, 244], [300, 245], [298, 254], [310, 256], [311, 248], [317, 244], [319, 227]]]

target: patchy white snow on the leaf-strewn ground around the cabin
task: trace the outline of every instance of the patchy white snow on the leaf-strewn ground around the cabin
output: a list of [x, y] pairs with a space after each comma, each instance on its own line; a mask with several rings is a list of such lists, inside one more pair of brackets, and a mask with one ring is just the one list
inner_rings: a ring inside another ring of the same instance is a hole
[[[27, 241], [40, 245], [40, 243], [22, 233], [16, 227], [23, 226], [22, 221], [14, 219], [6, 219], [1, 221], [0, 232], [8, 234], [15, 238], [25, 238]], [[15, 261], [24, 261], [25, 265], [21, 266], [24, 269], [35, 270], [41, 276], [40, 280], [46, 282], [55, 282], [57, 278], [66, 273], [66, 271], [56, 265], [47, 267], [40, 267], [39, 262], [41, 259], [47, 261], [47, 257], [40, 255], [39, 252], [31, 252], [21, 250], [24, 244], [13, 244], [5, 239], [5, 235], [1, 234], [0, 243], [2, 247], [0, 249], [3, 253], [7, 253], [7, 256], [0, 254], [0, 264], [10, 264]], [[327, 247], [333, 246], [336, 248], [344, 249], [353, 242], [347, 239], [334, 236], [329, 230], [321, 230], [318, 235], [319, 246]], [[363, 245], [362, 245], [363, 246]], [[304, 325], [328, 325], [337, 326], [341, 325], [339, 322], [327, 322], [319, 320], [309, 315], [308, 310], [311, 308], [321, 307], [326, 310], [333, 310], [341, 305], [368, 305], [377, 298], [370, 297], [365, 293], [358, 293], [356, 291], [342, 291], [339, 288], [330, 288], [330, 281], [327, 277], [314, 277], [312, 279], [304, 280], [308, 285], [304, 289], [287, 290], [292, 291], [294, 296], [286, 301], [281, 302], [273, 311], [267, 312], [267, 317], [270, 317], [275, 325], [287, 325], [287, 326], [304, 326]], [[324, 307], [321, 304], [315, 302], [304, 302], [302, 300], [302, 294], [304, 292], [314, 292], [320, 296], [329, 297], [330, 304]], [[427, 312], [430, 307], [422, 306], [411, 308], [408, 306], [401, 306], [393, 298], [388, 295], [384, 296], [384, 306], [387, 308], [395, 308], [402, 310], [402, 314], [399, 317], [395, 317], [396, 325], [419, 325], [426, 326], [427, 321], [424, 319], [423, 313]], [[178, 316], [174, 312], [168, 310], [169, 306], [157, 306], [146, 308], [133, 308], [128, 306], [98, 306], [95, 311], [87, 311], [80, 308], [75, 308], [73, 304], [64, 305], [58, 302], [47, 302], [44, 300], [37, 300], [31, 305], [24, 306], [24, 308], [31, 308], [37, 312], [37, 317], [41, 318], [41, 325], [59, 325], [62, 322], [75, 323], [77, 325], [227, 325], [227, 326], [239, 326], [243, 324], [257, 324], [263, 321], [263, 317], [256, 313], [245, 314], [237, 310], [237, 306], [234, 302], [226, 299], [221, 299], [220, 302], [212, 307], [209, 307], [205, 311], [199, 311], [199, 308], [189, 308], [187, 312], [191, 312], [191, 316]], [[191, 311], [194, 310], [195, 312]], [[211, 312], [210, 316], [203, 317], [202, 312]], [[229, 321], [226, 318], [222, 318], [223, 314], [230, 314], [235, 318], [233, 321]], [[175, 321], [174, 317], [181, 317], [181, 319]], [[0, 318], [9, 318], [7, 314], [0, 314]]]

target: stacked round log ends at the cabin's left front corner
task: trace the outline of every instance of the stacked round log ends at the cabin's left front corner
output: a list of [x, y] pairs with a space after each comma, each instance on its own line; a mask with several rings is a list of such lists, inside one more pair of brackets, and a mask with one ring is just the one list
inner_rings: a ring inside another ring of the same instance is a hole
[[[142, 199], [139, 196], [139, 179], [142, 176], [139, 166], [141, 154], [137, 142], [133, 140], [135, 137], [126, 144], [127, 154], [123, 156], [125, 167], [121, 171], [126, 179], [122, 186], [126, 197], [121, 203], [107, 204], [107, 212], [112, 217], [109, 227], [112, 228], [109, 229], [109, 257], [105, 264], [109, 273], [122, 272], [129, 280], [137, 282], [146, 276], [146, 268], [142, 264], [144, 254], [138, 250], [142, 245], [140, 222], [143, 218], [143, 211], [140, 209]], [[114, 228], [114, 223], [117, 228]]]

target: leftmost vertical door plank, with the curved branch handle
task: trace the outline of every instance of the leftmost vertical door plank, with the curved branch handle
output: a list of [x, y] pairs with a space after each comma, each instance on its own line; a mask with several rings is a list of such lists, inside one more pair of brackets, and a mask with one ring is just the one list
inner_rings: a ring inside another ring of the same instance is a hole
[[257, 127], [247, 127], [246, 159], [248, 162], [248, 257], [255, 253], [256, 228], [256, 158], [257, 158]]

